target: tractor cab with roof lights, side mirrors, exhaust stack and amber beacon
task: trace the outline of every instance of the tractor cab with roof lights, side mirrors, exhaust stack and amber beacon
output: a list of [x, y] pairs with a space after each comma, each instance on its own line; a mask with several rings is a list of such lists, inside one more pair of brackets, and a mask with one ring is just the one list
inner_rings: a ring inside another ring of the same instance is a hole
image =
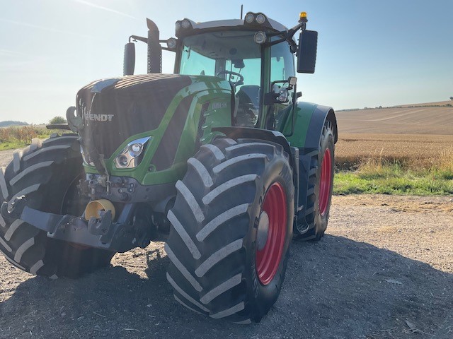
[[[305, 30], [306, 13], [288, 30], [263, 13], [247, 13], [244, 20], [217, 20], [195, 23], [187, 18], [176, 22], [176, 38], [159, 40], [159, 30], [148, 19], [147, 39], [132, 40], [149, 45], [149, 73], [161, 71], [161, 49], [176, 53], [174, 73], [213, 76], [231, 85], [231, 126], [276, 130], [292, 135], [297, 97], [298, 71], [314, 73], [317, 32]], [[302, 28], [299, 48], [294, 33]], [[302, 41], [304, 40], [304, 41]], [[166, 41], [167, 47], [160, 42]], [[302, 49], [302, 46], [305, 48]], [[125, 75], [133, 73], [131, 43], [125, 49]], [[159, 59], [155, 61], [152, 59]]]

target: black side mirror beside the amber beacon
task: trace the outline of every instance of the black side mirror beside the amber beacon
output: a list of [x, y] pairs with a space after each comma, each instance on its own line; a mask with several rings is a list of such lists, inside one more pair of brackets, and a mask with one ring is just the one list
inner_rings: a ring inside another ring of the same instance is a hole
[[302, 30], [299, 35], [299, 49], [297, 50], [297, 73], [314, 73], [317, 48], [318, 32]]

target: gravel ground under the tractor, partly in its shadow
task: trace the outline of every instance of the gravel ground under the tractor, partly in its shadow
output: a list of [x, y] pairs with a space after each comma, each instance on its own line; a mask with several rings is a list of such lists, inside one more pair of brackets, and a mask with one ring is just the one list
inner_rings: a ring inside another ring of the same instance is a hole
[[249, 326], [181, 307], [163, 245], [79, 280], [0, 257], [0, 338], [453, 338], [452, 197], [335, 196], [326, 237], [292, 243], [280, 298]]

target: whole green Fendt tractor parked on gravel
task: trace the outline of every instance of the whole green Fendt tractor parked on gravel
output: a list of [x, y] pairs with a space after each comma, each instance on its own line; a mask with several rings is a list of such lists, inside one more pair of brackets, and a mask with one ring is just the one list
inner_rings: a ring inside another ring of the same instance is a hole
[[[58, 126], [68, 133], [33, 139], [1, 168], [6, 259], [76, 278], [168, 234], [180, 304], [260, 321], [292, 239], [321, 239], [331, 206], [335, 113], [297, 101], [295, 71], [314, 73], [316, 61], [306, 22], [185, 18], [159, 40], [147, 20], [148, 36], [126, 44], [124, 76], [79, 90]], [[134, 42], [147, 43], [147, 74], [133, 75]], [[174, 74], [161, 73], [162, 49], [176, 54]]]

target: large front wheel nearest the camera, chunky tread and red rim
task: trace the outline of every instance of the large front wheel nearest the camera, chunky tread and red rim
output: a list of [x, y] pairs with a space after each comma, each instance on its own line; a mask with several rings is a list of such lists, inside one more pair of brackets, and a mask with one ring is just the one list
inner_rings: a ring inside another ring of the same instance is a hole
[[217, 139], [188, 160], [165, 246], [180, 304], [235, 323], [268, 313], [285, 279], [293, 185], [288, 155], [266, 141]]

